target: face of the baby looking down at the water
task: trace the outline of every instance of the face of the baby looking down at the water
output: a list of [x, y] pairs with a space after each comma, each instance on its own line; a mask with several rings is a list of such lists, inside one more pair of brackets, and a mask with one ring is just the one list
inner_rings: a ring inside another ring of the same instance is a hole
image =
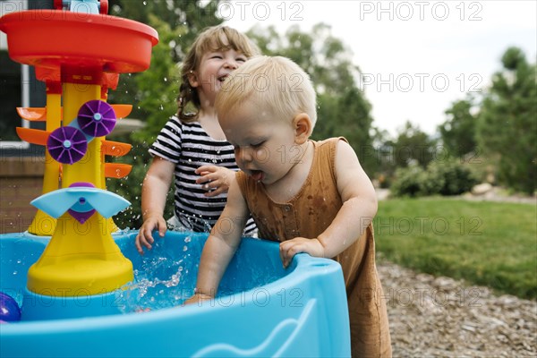
[[252, 179], [270, 185], [283, 178], [303, 156], [296, 145], [292, 118], [277, 118], [254, 104], [218, 115], [237, 165]]

